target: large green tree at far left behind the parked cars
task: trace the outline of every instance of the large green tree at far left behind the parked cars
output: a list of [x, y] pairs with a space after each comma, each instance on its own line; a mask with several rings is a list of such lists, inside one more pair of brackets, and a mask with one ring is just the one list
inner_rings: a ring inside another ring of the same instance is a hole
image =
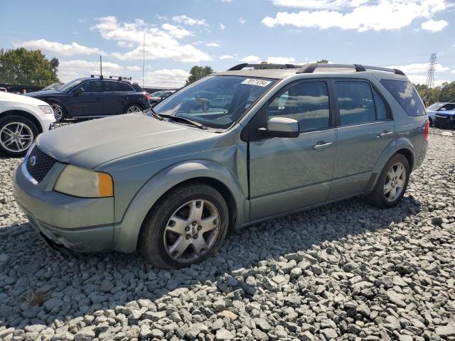
[[48, 60], [40, 50], [0, 50], [0, 83], [45, 87], [58, 82], [58, 59]]

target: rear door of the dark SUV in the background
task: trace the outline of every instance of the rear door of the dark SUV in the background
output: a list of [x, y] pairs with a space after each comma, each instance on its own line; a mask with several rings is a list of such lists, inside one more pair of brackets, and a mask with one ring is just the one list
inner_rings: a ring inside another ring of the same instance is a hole
[[117, 115], [124, 114], [127, 102], [134, 92], [133, 88], [126, 83], [115, 80], [105, 81], [105, 92], [103, 93], [103, 114]]

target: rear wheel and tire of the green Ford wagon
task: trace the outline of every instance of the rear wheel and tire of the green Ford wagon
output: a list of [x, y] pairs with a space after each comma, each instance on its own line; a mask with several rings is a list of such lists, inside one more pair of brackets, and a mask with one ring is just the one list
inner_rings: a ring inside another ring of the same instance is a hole
[[[393, 173], [392, 172], [393, 168]], [[403, 173], [399, 175], [402, 169]], [[378, 182], [373, 189], [373, 192], [366, 195], [366, 200], [370, 205], [380, 208], [389, 208], [397, 205], [405, 195], [407, 183], [410, 179], [410, 164], [407, 158], [400, 153], [396, 153], [385, 165], [384, 169], [378, 178]], [[386, 184], [389, 184], [386, 188]], [[395, 190], [395, 195], [394, 195]]]

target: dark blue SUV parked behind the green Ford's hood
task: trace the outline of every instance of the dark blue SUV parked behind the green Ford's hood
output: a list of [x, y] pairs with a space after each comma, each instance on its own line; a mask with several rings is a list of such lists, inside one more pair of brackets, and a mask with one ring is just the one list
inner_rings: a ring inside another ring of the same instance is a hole
[[77, 78], [55, 90], [31, 92], [26, 96], [47, 102], [56, 121], [140, 112], [150, 106], [149, 93], [137, 83], [112, 76]]

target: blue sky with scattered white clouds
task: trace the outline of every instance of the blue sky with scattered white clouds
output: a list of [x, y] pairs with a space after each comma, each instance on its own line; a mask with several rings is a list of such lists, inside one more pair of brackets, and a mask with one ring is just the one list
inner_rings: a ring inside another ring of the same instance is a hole
[[[63, 82], [100, 74], [180, 87], [193, 65], [360, 63], [416, 83], [437, 53], [455, 80], [455, 0], [0, 0], [0, 48], [58, 58]], [[144, 39], [145, 37], [145, 39]], [[145, 47], [144, 47], [145, 43]], [[144, 79], [142, 77], [145, 55]]]

